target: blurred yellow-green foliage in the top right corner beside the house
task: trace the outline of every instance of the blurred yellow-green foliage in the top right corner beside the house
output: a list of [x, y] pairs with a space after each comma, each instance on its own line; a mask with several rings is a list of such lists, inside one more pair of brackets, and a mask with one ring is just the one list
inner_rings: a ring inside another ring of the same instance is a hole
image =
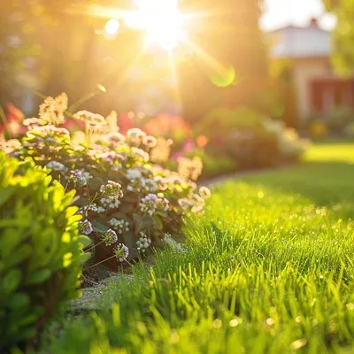
[[335, 49], [332, 63], [342, 76], [354, 74], [354, 1], [323, 0], [327, 11], [333, 12], [337, 18], [334, 39]]

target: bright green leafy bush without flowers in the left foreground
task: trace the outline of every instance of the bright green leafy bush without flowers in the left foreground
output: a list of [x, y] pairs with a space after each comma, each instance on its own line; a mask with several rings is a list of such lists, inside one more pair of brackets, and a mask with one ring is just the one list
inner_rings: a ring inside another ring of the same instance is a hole
[[0, 351], [35, 337], [77, 296], [86, 236], [65, 194], [42, 169], [0, 152]]

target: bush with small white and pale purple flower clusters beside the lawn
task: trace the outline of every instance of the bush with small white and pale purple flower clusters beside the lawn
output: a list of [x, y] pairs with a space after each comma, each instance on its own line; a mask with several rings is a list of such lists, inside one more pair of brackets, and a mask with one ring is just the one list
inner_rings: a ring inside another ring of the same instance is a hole
[[48, 97], [38, 119], [24, 120], [29, 130], [23, 140], [3, 146], [13, 156], [47, 166], [66, 189], [76, 189], [81, 231], [94, 240], [96, 261], [109, 258], [106, 265], [116, 268], [163, 247], [171, 235], [183, 236], [183, 216], [203, 212], [210, 194], [194, 182], [203, 169], [200, 159], [181, 161], [179, 173], [157, 165], [168, 159], [171, 143], [139, 128], [120, 134], [115, 112], [106, 118], [77, 112], [72, 118], [84, 123], [84, 131], [70, 134], [59, 127], [66, 107], [65, 94]]

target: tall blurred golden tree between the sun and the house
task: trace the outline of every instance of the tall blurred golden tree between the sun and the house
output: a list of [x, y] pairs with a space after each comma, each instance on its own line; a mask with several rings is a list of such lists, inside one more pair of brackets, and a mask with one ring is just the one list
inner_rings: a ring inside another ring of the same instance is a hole
[[[191, 55], [180, 65], [185, 116], [196, 121], [215, 106], [248, 105], [272, 113], [266, 43], [258, 0], [185, 0], [203, 13], [190, 34]], [[267, 92], [268, 91], [268, 92]]]

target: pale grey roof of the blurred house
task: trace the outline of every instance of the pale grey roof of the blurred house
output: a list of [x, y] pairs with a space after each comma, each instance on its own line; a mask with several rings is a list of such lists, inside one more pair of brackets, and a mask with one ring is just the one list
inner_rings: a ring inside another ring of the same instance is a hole
[[308, 27], [282, 27], [269, 35], [272, 58], [323, 58], [332, 51], [331, 33], [319, 28], [316, 19]]

